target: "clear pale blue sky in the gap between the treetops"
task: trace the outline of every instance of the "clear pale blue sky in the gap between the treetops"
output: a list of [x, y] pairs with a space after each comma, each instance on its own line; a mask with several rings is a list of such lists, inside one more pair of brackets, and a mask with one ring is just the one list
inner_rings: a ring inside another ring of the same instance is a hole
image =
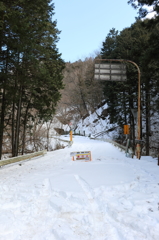
[[128, 0], [53, 0], [57, 43], [62, 59], [75, 62], [100, 52], [109, 30], [123, 30], [135, 22], [137, 11]]

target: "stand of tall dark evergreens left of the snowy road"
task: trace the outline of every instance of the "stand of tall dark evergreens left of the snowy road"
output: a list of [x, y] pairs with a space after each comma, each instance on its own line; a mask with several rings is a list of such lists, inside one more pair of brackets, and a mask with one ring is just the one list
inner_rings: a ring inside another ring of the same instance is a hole
[[47, 121], [54, 113], [63, 87], [64, 62], [56, 48], [59, 31], [52, 21], [50, 0], [0, 1], [0, 12], [1, 157], [9, 112], [13, 156], [18, 155], [21, 126], [25, 136], [28, 116], [36, 111]]

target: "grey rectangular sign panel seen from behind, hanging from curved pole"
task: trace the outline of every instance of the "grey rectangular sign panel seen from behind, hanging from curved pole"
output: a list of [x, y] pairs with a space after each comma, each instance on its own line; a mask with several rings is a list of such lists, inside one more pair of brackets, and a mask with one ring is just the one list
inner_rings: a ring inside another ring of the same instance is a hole
[[126, 65], [123, 63], [96, 63], [95, 80], [126, 81]]

